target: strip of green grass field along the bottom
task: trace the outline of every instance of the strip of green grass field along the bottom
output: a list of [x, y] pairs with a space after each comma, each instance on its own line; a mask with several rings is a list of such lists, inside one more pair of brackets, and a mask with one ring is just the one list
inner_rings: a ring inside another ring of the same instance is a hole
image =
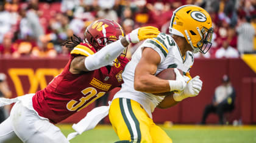
[[[65, 136], [74, 130], [71, 125], [58, 125]], [[256, 143], [256, 126], [201, 126], [174, 125], [163, 127], [174, 143]], [[115, 131], [110, 125], [99, 125], [94, 130], [76, 136], [71, 143], [110, 143], [118, 141]]]

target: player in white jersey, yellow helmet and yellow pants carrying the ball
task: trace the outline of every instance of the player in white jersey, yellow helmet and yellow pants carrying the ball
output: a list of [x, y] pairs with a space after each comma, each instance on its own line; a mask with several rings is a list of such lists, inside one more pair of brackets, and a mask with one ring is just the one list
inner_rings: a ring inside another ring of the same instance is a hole
[[[172, 142], [152, 121], [152, 111], [155, 107], [171, 107], [201, 91], [199, 76], [191, 78], [188, 71], [194, 62], [193, 53], [207, 53], [212, 46], [210, 15], [196, 5], [183, 5], [173, 12], [169, 32], [171, 35], [160, 33], [157, 38], [144, 41], [126, 65], [124, 84], [109, 110], [110, 122], [121, 140], [118, 142]], [[176, 81], [155, 76], [170, 67], [174, 68]], [[154, 95], [168, 91], [176, 93]]]

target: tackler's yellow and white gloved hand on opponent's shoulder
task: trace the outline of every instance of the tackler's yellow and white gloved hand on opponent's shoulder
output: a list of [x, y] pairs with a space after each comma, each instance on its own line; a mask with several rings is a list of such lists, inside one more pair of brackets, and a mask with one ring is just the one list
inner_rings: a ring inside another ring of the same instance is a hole
[[137, 43], [148, 38], [155, 38], [159, 34], [159, 30], [156, 27], [147, 26], [132, 30], [131, 33], [126, 35], [126, 41], [130, 43]]

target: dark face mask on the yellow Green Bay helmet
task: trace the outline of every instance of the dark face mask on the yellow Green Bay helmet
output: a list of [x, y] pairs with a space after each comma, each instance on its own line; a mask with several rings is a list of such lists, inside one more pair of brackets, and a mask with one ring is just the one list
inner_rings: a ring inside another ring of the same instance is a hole
[[201, 33], [202, 39], [197, 42], [197, 48], [200, 49], [201, 53], [205, 54], [212, 47], [213, 28], [207, 29], [203, 27]]

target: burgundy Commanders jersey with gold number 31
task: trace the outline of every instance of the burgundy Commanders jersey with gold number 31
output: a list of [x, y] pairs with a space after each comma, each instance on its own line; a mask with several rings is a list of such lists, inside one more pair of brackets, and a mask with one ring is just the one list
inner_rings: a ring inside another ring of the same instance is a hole
[[74, 57], [89, 56], [95, 52], [89, 44], [79, 44], [71, 51], [71, 58], [62, 73], [46, 88], [35, 93], [32, 101], [38, 115], [56, 124], [123, 83], [121, 73], [129, 62], [126, 58], [118, 58], [119, 64], [113, 65], [110, 71], [102, 67], [76, 75], [69, 72]]

